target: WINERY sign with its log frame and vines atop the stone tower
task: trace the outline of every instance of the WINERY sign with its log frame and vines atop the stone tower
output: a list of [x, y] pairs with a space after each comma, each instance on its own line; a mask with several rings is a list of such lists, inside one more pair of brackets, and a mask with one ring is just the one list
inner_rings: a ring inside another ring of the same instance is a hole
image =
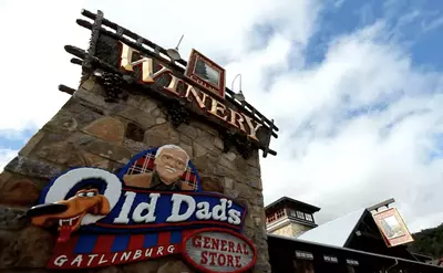
[[82, 82], [94, 76], [101, 84], [106, 103], [128, 94], [150, 96], [176, 127], [190, 118], [210, 125], [224, 139], [225, 151], [235, 147], [245, 158], [257, 149], [264, 157], [277, 155], [269, 148], [270, 139], [278, 137], [274, 120], [226, 87], [220, 65], [195, 49], [187, 62], [173, 57], [171, 50], [104, 19], [102, 12], [82, 14], [94, 20], [78, 20], [92, 32], [90, 46], [65, 50], [75, 55], [73, 63], [82, 65]]

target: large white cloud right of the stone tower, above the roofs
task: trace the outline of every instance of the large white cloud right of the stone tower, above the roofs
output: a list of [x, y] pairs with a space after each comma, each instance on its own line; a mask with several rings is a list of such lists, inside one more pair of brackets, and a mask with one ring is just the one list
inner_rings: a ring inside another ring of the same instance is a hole
[[[399, 45], [380, 42], [383, 31], [377, 23], [342, 36], [318, 67], [277, 78], [267, 102], [280, 127], [295, 133], [311, 123], [309, 134], [279, 143], [279, 159], [262, 160], [267, 201], [286, 192], [322, 207], [317, 219], [326, 221], [394, 197], [413, 231], [423, 227], [424, 214], [426, 224], [440, 224], [434, 192], [443, 190], [443, 166], [427, 157], [434, 134], [442, 132], [443, 96], [435, 94], [442, 76], [421, 72]], [[387, 99], [384, 112], [343, 118], [347, 111]], [[275, 177], [282, 160], [282, 174]], [[285, 186], [274, 188], [275, 179]]]

